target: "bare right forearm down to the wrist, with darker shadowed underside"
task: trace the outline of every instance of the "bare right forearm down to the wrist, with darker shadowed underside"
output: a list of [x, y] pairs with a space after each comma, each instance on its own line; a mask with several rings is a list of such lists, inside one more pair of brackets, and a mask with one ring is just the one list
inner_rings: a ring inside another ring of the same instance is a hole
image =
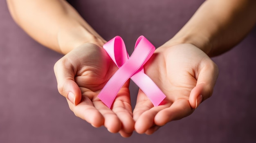
[[207, 0], [166, 44], [190, 43], [209, 56], [238, 44], [256, 23], [256, 0]]

